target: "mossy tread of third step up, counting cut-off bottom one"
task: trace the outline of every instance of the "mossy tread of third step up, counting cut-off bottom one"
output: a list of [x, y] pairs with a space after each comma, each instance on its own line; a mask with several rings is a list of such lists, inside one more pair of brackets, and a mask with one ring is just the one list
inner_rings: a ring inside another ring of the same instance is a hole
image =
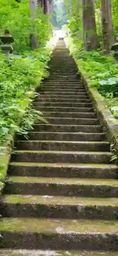
[[4, 195], [3, 202], [6, 203], [28, 203], [28, 204], [86, 204], [91, 205], [118, 205], [118, 198], [84, 198], [84, 197], [58, 197], [58, 196], [31, 196], [31, 195]]

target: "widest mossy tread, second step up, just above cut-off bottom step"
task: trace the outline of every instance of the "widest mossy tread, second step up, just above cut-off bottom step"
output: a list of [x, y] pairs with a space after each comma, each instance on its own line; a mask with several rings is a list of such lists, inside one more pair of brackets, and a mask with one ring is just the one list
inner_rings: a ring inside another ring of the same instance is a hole
[[65, 219], [4, 218], [0, 231], [21, 231], [38, 233], [64, 232], [117, 232], [118, 221], [88, 221]]

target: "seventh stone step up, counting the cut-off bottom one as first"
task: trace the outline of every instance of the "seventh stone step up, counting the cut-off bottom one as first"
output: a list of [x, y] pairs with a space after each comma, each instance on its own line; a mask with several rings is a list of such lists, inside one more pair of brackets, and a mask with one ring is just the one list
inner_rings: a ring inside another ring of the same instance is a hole
[[15, 143], [17, 150], [48, 150], [48, 151], [102, 151], [110, 150], [108, 142], [90, 141], [42, 141], [19, 140]]

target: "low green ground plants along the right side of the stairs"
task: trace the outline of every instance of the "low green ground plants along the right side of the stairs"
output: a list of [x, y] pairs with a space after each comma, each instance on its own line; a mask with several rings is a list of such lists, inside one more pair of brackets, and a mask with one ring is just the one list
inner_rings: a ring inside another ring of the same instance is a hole
[[91, 86], [97, 87], [102, 96], [106, 98], [114, 117], [118, 117], [117, 63], [113, 56], [102, 55], [102, 51], [87, 52], [77, 47], [73, 54], [89, 76]]

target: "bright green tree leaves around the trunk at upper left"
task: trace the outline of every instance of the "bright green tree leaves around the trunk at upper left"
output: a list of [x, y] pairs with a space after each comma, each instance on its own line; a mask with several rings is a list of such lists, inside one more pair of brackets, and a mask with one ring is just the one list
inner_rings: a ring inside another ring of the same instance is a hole
[[37, 19], [31, 18], [29, 0], [17, 3], [15, 0], [0, 0], [0, 33], [7, 28], [14, 37], [14, 52], [30, 50], [30, 34], [37, 29], [37, 39], [41, 45], [51, 35], [49, 17], [44, 15], [41, 7], [37, 9]]

